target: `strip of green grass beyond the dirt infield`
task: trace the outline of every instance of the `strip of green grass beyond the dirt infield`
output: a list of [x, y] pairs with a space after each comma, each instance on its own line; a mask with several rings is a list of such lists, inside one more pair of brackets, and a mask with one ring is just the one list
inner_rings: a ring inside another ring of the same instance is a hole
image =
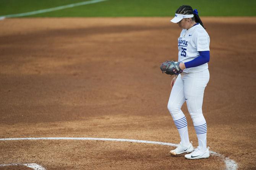
[[[0, 16], [52, 8], [84, 0], [0, 0]], [[28, 17], [173, 16], [190, 5], [199, 16], [256, 16], [256, 0], [108, 0]]]

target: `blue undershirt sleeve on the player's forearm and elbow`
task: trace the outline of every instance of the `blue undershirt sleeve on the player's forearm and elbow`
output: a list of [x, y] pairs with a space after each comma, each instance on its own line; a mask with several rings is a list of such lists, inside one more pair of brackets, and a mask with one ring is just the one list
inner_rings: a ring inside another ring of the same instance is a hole
[[185, 62], [185, 67], [186, 68], [191, 68], [191, 67], [197, 67], [199, 65], [206, 64], [207, 62], [210, 61], [210, 51], [199, 51], [198, 57], [195, 59]]

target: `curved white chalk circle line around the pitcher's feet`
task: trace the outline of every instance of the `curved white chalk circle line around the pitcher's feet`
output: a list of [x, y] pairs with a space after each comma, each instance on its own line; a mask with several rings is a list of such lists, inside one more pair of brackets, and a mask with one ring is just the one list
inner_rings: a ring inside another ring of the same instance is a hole
[[[133, 140], [133, 139], [115, 139], [115, 138], [71, 138], [71, 137], [45, 137], [45, 138], [0, 138], [0, 141], [8, 141], [8, 140], [102, 140], [102, 141], [126, 141], [126, 142], [135, 142], [135, 143], [149, 143], [156, 145], [167, 145], [167, 146], [178, 146], [174, 143], [166, 143], [166, 142], [158, 142], [158, 141], [147, 141], [147, 140]], [[221, 157], [226, 165], [225, 170], [237, 170], [237, 163], [230, 159], [229, 157], [225, 157], [219, 153], [214, 151], [210, 151], [210, 153], [214, 156]]]

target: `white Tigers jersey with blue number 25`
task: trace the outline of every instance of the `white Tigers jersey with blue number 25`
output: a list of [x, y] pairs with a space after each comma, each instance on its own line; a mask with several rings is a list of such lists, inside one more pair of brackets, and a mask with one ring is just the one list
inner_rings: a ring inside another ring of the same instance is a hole
[[[178, 61], [188, 62], [199, 56], [198, 51], [210, 51], [210, 37], [202, 25], [197, 24], [186, 30], [183, 29], [178, 38]], [[185, 68], [184, 73], [196, 73], [208, 68], [208, 64]]]

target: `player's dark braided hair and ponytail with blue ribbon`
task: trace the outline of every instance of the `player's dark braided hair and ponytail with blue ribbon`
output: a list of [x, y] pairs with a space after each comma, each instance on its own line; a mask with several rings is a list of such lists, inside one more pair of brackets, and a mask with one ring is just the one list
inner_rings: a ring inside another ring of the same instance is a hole
[[189, 5], [180, 6], [180, 8], [178, 8], [178, 10], [176, 11], [176, 14], [184, 14], [184, 15], [194, 14], [194, 17], [192, 18], [192, 20], [202, 25], [202, 27], [205, 29], [203, 22], [198, 16], [198, 11], [196, 9], [193, 10], [191, 6]]

